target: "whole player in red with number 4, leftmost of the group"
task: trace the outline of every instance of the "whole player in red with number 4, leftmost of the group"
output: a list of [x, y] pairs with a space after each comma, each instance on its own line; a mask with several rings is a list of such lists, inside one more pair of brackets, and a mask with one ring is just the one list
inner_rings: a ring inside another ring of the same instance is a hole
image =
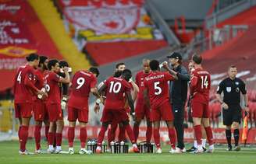
[[40, 89], [34, 86], [34, 68], [37, 68], [39, 60], [37, 54], [30, 54], [27, 56], [27, 65], [18, 68], [14, 79], [14, 105], [16, 118], [20, 121], [20, 128], [18, 131], [20, 139], [20, 154], [29, 154], [26, 150], [28, 127], [30, 125], [30, 118], [33, 110], [33, 96], [35, 94], [42, 94]]

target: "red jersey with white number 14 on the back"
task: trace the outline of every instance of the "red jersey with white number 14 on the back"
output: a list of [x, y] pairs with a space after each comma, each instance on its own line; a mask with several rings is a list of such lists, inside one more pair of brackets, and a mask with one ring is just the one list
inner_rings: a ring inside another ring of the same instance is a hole
[[191, 73], [190, 95], [193, 100], [208, 103], [211, 89], [211, 75], [202, 68], [197, 68]]

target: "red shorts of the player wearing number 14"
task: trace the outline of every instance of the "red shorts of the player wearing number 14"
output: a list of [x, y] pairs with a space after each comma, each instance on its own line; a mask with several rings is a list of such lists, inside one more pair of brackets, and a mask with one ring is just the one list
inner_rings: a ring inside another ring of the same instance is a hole
[[209, 118], [210, 112], [208, 110], [208, 103], [191, 102], [191, 116], [198, 118]]

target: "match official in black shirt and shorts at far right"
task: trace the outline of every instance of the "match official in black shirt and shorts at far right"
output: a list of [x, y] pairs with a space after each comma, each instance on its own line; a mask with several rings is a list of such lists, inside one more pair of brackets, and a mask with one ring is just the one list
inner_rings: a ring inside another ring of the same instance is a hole
[[[248, 112], [248, 97], [245, 83], [236, 78], [237, 69], [231, 65], [228, 70], [229, 77], [219, 83], [217, 89], [217, 99], [222, 103], [223, 124], [226, 125], [226, 141], [228, 142], [228, 151], [232, 150], [231, 145], [231, 126], [233, 127], [233, 136], [235, 139], [235, 151], [240, 151], [239, 147], [239, 124], [241, 120], [240, 93], [244, 96], [244, 110]], [[221, 97], [222, 92], [223, 100]]]

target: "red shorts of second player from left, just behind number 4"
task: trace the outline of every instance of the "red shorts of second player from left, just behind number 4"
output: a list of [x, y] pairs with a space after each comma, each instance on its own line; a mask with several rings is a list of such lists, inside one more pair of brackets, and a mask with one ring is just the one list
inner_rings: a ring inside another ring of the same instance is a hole
[[40, 99], [34, 101], [34, 120], [36, 121], [43, 121], [48, 120], [48, 112], [46, 110], [45, 103]]

